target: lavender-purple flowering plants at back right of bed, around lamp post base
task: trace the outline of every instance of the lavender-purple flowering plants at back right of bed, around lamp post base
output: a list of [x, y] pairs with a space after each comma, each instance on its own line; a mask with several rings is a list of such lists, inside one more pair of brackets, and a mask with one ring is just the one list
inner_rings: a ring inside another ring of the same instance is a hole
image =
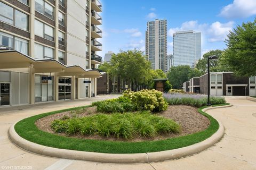
[[[164, 94], [164, 98], [169, 105], [189, 105], [201, 107], [207, 104], [207, 96], [199, 94]], [[210, 96], [212, 105], [225, 104], [223, 97]]]

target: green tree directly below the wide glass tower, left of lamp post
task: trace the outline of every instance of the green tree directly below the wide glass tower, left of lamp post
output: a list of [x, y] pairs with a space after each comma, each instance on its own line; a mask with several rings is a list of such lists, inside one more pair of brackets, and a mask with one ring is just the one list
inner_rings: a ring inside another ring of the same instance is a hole
[[181, 89], [183, 82], [199, 76], [201, 73], [197, 69], [191, 69], [188, 65], [172, 66], [167, 73], [167, 79], [172, 84], [173, 89]]

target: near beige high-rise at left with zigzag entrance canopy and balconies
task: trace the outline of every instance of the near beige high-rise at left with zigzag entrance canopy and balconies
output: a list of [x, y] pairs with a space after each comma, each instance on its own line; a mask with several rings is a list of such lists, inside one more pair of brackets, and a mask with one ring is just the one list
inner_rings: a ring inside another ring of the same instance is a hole
[[95, 96], [98, 0], [0, 0], [0, 11], [0, 106]]

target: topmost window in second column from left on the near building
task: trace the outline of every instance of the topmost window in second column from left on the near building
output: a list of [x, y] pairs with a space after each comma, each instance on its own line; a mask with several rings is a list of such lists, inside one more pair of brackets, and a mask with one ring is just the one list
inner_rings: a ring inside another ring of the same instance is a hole
[[35, 0], [35, 10], [51, 19], [54, 18], [54, 8], [43, 0]]

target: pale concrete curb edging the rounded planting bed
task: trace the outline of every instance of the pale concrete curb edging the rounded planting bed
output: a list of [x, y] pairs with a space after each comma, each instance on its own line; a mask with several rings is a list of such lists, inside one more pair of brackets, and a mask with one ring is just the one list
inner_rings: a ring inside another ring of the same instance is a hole
[[[208, 107], [203, 109], [203, 111], [208, 111], [209, 109], [215, 108], [224, 108], [231, 107], [232, 105], [226, 106], [217, 106], [217, 107]], [[218, 120], [217, 120], [218, 121]], [[38, 145], [36, 143], [30, 142], [26, 139], [21, 138], [17, 132], [14, 130], [14, 125], [8, 131], [9, 139], [18, 147], [25, 149], [29, 152], [33, 152], [35, 154], [50, 156], [50, 157], [58, 157], [65, 159], [76, 159], [76, 160], [86, 160], [90, 162], [100, 162], [100, 163], [117, 163], [117, 164], [134, 164], [134, 163], [151, 163], [151, 162], [162, 162], [164, 160], [170, 159], [178, 159], [181, 157], [189, 156], [201, 152], [211, 146], [214, 143], [218, 142], [224, 132], [225, 129], [221, 122], [219, 122], [220, 128], [217, 132], [215, 132], [210, 138], [196, 143], [191, 146], [159, 151], [159, 152], [148, 152], [142, 154], [103, 154], [97, 152], [86, 152], [86, 151], [76, 151], [76, 150], [67, 150], [67, 149], [58, 149], [52, 147], [46, 147], [42, 145]]]

